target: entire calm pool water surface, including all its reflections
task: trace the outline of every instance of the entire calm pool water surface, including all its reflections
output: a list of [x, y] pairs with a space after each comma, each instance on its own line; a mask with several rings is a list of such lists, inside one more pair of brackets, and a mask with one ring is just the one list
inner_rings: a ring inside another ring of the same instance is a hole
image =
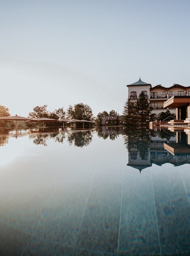
[[155, 254], [190, 254], [190, 131], [0, 130], [0, 255]]

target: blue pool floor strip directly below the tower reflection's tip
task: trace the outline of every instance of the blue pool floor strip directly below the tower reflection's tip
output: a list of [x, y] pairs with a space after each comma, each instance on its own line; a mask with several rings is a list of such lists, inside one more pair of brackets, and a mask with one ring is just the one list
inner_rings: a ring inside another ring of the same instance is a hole
[[160, 254], [150, 169], [127, 170], [123, 180], [119, 255]]

